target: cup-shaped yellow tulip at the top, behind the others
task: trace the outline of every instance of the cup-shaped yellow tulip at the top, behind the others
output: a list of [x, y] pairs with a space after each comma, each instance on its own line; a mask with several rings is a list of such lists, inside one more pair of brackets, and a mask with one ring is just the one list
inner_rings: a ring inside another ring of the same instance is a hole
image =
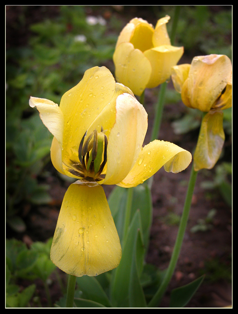
[[113, 61], [116, 80], [140, 96], [171, 76], [171, 67], [183, 54], [183, 47], [171, 46], [166, 24], [170, 17], [157, 21], [154, 28], [143, 19], [132, 19], [121, 31]]

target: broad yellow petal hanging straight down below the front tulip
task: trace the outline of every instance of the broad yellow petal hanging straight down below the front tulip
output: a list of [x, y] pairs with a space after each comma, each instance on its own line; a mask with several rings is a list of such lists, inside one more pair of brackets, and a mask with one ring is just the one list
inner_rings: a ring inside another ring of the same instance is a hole
[[50, 258], [71, 275], [96, 276], [118, 266], [121, 246], [103, 188], [78, 181], [61, 206]]

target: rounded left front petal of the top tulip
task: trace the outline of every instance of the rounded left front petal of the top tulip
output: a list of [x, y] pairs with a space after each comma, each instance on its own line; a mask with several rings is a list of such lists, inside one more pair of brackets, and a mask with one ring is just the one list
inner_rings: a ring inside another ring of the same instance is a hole
[[151, 63], [143, 52], [131, 43], [120, 44], [114, 52], [115, 76], [119, 83], [129, 87], [135, 95], [144, 91], [150, 76]]

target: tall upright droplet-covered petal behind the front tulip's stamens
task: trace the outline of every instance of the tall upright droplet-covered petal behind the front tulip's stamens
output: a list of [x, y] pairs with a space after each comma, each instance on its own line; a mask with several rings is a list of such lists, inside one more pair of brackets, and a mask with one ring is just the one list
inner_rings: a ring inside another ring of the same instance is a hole
[[105, 67], [87, 70], [82, 80], [61, 98], [64, 115], [62, 160], [78, 160], [79, 144], [88, 127], [114, 95], [115, 80]]

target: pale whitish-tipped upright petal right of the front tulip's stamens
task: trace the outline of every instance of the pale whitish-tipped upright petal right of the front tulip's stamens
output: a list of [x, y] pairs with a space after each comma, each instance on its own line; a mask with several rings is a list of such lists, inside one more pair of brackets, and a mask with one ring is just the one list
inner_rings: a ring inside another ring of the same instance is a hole
[[139, 155], [147, 131], [147, 113], [130, 94], [116, 100], [116, 122], [108, 137], [107, 174], [103, 184], [122, 181]]

